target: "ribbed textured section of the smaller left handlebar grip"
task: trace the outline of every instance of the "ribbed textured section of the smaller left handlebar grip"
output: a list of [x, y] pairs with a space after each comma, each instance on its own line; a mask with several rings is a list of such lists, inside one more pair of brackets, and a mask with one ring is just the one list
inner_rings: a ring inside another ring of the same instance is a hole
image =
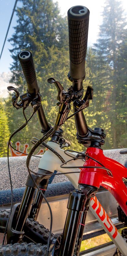
[[33, 84], [33, 82], [36, 79], [36, 73], [35, 73], [35, 70], [33, 68], [33, 65], [32, 65], [31, 61], [28, 61], [28, 62], [20, 61], [20, 64], [21, 64], [26, 82], [29, 85]]

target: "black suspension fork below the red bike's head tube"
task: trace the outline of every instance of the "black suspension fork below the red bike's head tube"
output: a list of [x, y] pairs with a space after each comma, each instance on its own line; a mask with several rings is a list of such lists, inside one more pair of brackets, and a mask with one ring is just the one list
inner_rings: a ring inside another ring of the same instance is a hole
[[[97, 191], [98, 188], [96, 187], [79, 185], [79, 189], [70, 192], [67, 204], [67, 217], [58, 256], [79, 255], [84, 230], [83, 225], [85, 225], [90, 198], [95, 196]], [[84, 214], [82, 215], [83, 211]]]

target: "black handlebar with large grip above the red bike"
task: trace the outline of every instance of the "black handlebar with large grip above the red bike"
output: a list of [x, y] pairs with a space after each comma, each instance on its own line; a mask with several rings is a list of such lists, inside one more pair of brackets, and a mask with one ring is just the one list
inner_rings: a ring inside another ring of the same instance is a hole
[[[77, 91], [83, 88], [83, 80], [86, 75], [85, 60], [90, 11], [85, 6], [73, 6], [68, 10], [67, 15], [70, 54], [68, 79], [72, 82], [74, 91]], [[73, 107], [73, 111], [76, 112], [76, 110]], [[83, 110], [75, 115], [75, 126], [79, 136], [84, 136], [88, 133]]]

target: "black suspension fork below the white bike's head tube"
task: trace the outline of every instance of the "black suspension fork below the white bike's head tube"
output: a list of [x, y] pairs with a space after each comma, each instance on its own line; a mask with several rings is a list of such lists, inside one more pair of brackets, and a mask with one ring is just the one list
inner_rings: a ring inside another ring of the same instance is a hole
[[[43, 174], [43, 175], [42, 175]], [[46, 184], [48, 186], [47, 180], [49, 180], [50, 175], [52, 172], [39, 169], [36, 174], [32, 174], [33, 179], [35, 180], [36, 184], [40, 186], [40, 188], [45, 188]], [[44, 180], [44, 186], [43, 186], [43, 180]], [[33, 180], [31, 179], [30, 175], [28, 175], [27, 181], [26, 181], [26, 188], [24, 195], [21, 200], [21, 204], [17, 213], [16, 220], [13, 221], [13, 216], [15, 215], [15, 212], [13, 212], [10, 215], [10, 222], [9, 223], [9, 229], [7, 230], [7, 243], [17, 243], [21, 242], [22, 233], [23, 233], [23, 227], [26, 221], [26, 218], [29, 213], [30, 206], [32, 204], [33, 196], [36, 190], [36, 185], [34, 184]], [[42, 196], [43, 197], [43, 196]], [[35, 201], [35, 200], [34, 200]], [[41, 198], [42, 202], [42, 198]], [[38, 202], [39, 205], [40, 201]], [[38, 206], [39, 208], [40, 206]], [[39, 208], [40, 209], [40, 208]], [[13, 216], [12, 216], [13, 215]]]

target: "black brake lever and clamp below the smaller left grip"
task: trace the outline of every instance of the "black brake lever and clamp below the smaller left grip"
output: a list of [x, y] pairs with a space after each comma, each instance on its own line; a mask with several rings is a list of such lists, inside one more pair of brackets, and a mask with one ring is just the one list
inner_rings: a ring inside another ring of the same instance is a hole
[[[39, 109], [40, 103], [41, 103], [41, 95], [39, 93], [37, 93], [37, 95], [33, 95], [27, 92], [20, 96], [17, 89], [15, 89], [13, 86], [8, 86], [7, 89], [9, 91], [13, 90], [15, 92], [11, 100], [12, 100], [13, 106], [16, 109], [26, 108], [29, 106], [30, 103], [32, 108], [34, 109], [34, 112], [36, 112]], [[19, 103], [17, 103], [18, 98], [20, 98]]]

